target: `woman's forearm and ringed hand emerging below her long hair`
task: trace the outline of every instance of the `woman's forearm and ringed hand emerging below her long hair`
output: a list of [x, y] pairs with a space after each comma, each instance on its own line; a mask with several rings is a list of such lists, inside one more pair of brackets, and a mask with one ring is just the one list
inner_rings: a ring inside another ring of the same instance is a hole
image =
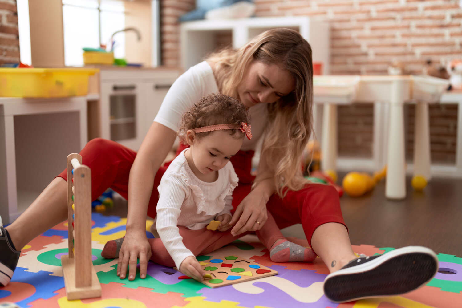
[[269, 171], [270, 168], [264, 157], [260, 158], [257, 170], [257, 176], [254, 181], [256, 185], [237, 206], [231, 219], [230, 224], [235, 224], [231, 229], [233, 236], [250, 230], [260, 230], [267, 221], [266, 204], [276, 189], [274, 187], [273, 175]]

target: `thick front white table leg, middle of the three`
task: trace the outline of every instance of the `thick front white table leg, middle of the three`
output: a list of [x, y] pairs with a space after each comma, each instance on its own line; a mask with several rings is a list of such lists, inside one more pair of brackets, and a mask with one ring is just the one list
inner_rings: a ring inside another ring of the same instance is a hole
[[389, 199], [406, 197], [406, 169], [404, 156], [403, 83], [395, 81], [391, 87], [390, 121], [385, 196]]

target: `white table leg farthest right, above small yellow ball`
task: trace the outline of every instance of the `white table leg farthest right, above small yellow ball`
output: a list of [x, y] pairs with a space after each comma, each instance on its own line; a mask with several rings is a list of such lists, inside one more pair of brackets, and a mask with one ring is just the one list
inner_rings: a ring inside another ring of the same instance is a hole
[[418, 102], [415, 106], [414, 126], [414, 175], [430, 180], [430, 128], [428, 103]]

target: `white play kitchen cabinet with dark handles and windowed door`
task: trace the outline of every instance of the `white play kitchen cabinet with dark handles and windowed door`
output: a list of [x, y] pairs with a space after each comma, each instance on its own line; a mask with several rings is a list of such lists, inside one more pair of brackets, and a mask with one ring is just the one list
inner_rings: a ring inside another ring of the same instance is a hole
[[179, 75], [179, 70], [167, 68], [102, 69], [99, 136], [137, 151]]

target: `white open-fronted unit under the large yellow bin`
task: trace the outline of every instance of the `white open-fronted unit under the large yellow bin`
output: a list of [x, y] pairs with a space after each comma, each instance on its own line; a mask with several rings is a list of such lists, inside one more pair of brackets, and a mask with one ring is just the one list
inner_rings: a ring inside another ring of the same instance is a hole
[[0, 97], [3, 222], [15, 220], [87, 139], [86, 97]]

